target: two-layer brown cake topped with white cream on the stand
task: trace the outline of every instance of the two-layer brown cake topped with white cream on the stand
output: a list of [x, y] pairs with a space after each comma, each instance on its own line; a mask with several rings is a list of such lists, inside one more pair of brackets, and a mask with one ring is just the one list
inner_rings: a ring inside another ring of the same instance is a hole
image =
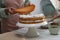
[[36, 24], [45, 21], [45, 16], [43, 14], [37, 15], [19, 15], [19, 22], [23, 24]]

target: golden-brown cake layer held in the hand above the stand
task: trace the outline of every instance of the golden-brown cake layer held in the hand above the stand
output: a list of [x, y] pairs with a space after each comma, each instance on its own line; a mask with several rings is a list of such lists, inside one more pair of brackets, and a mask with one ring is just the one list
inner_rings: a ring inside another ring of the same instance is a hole
[[32, 12], [34, 9], [35, 9], [35, 5], [30, 4], [30, 5], [27, 5], [25, 7], [15, 9], [13, 11], [16, 13], [19, 13], [19, 14], [25, 14], [26, 15], [26, 14], [29, 14], [30, 12]]

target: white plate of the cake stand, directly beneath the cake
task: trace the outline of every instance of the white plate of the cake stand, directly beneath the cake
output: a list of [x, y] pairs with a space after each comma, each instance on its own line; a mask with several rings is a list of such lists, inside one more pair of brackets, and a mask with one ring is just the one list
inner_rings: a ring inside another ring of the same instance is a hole
[[44, 21], [44, 22], [42, 22], [42, 23], [37, 23], [37, 24], [22, 24], [22, 23], [17, 22], [16, 25], [17, 25], [18, 27], [25, 27], [25, 28], [28, 28], [28, 27], [39, 28], [39, 27], [42, 26], [42, 25], [47, 25], [47, 21]]

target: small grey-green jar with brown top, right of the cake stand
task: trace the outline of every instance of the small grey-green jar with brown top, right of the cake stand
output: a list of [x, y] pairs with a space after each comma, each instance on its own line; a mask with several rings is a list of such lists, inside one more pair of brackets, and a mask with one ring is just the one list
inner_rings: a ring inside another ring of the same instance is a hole
[[59, 32], [58, 27], [59, 27], [58, 23], [53, 22], [53, 23], [49, 24], [49, 32], [50, 32], [50, 34], [57, 35], [58, 32]]

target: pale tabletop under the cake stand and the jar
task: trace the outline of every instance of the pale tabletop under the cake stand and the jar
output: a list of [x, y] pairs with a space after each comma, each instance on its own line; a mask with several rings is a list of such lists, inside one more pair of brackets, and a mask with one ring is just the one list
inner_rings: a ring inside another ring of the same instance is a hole
[[38, 32], [40, 36], [37, 38], [18, 37], [14, 32], [8, 32], [0, 34], [0, 40], [60, 40], [60, 32], [58, 35], [50, 35], [49, 31], [45, 29], [39, 29]]

